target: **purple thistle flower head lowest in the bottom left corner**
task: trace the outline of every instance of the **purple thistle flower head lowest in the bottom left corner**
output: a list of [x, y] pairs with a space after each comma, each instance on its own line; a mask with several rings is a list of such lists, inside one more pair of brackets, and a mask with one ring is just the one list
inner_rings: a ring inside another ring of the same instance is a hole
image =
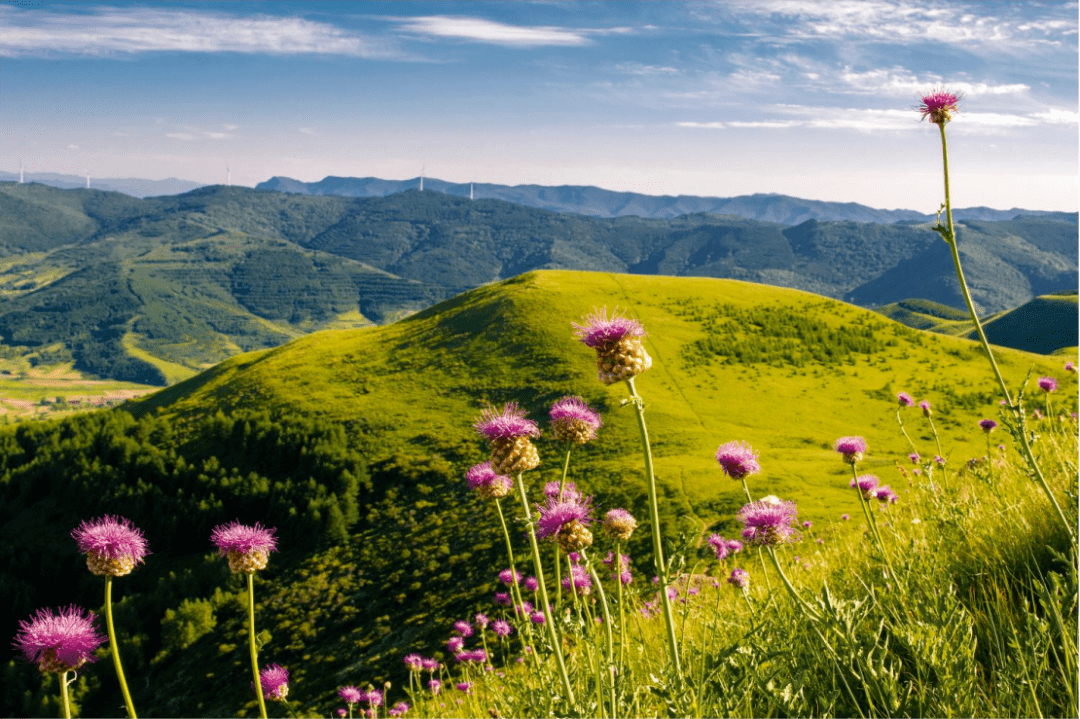
[[75, 605], [56, 614], [39, 609], [31, 621], [19, 621], [14, 647], [41, 671], [78, 669], [86, 662], [96, 662], [94, 652], [108, 639], [97, 632], [96, 620], [93, 612]]

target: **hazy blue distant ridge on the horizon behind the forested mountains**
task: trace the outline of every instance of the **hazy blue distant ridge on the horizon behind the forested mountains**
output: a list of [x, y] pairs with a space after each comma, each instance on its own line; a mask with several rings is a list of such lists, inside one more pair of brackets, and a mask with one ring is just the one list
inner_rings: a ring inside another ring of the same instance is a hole
[[[274, 190], [293, 194], [340, 195], [345, 198], [384, 198], [390, 194], [416, 190], [420, 178], [386, 180], [378, 177], [326, 177], [318, 182], [301, 182], [291, 177], [272, 177], [255, 186], [256, 190]], [[613, 192], [598, 187], [565, 185], [545, 187], [541, 185], [490, 185], [487, 182], [446, 182], [426, 177], [424, 190], [442, 192], [459, 198], [468, 198], [472, 191], [475, 199], [503, 200], [527, 207], [551, 209], [559, 213], [575, 213], [592, 217], [623, 217], [634, 215], [653, 219], [670, 219], [679, 215], [713, 213], [734, 215], [761, 222], [799, 225], [810, 219], [822, 221], [878, 222], [926, 222], [933, 215], [912, 209], [875, 209], [854, 202], [821, 202], [800, 200], [785, 194], [750, 194], [738, 198], [698, 198], [690, 195], [651, 195], [636, 192]], [[1010, 220], [1018, 215], [1061, 215], [1047, 219], [1062, 219], [1076, 222], [1076, 213], [1048, 213], [1036, 209], [991, 209], [989, 207], [968, 207], [955, 209], [957, 220]], [[1069, 219], [1071, 218], [1071, 219]]]

